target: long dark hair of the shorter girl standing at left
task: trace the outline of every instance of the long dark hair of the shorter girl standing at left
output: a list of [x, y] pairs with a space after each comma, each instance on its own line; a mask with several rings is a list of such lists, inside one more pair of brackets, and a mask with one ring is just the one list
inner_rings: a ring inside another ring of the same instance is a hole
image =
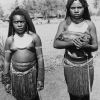
[[33, 24], [32, 19], [30, 18], [29, 14], [28, 14], [28, 12], [23, 8], [16, 7], [15, 10], [9, 16], [8, 37], [11, 36], [11, 35], [14, 35], [14, 29], [13, 29], [13, 16], [14, 15], [24, 16], [24, 18], [26, 20], [28, 31], [36, 33], [34, 24]]

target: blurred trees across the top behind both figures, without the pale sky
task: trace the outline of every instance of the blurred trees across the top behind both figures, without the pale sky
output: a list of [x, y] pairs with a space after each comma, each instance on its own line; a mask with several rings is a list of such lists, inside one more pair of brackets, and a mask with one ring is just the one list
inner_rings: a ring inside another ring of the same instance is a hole
[[[21, 6], [30, 13], [31, 18], [44, 18], [48, 19], [49, 22], [50, 18], [65, 17], [66, 3], [66, 0], [23, 0]], [[97, 9], [97, 12], [90, 9], [90, 14], [100, 15], [100, 0], [94, 0], [92, 5], [93, 9]], [[15, 0], [10, 12], [17, 6], [19, 6], [19, 2]], [[3, 14], [4, 12], [0, 6], [0, 18], [4, 16]]]

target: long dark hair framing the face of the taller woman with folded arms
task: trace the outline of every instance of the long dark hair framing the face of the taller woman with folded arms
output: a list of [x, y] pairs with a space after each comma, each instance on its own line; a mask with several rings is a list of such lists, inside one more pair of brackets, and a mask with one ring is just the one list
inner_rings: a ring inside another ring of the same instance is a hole
[[[68, 17], [70, 17], [70, 7], [72, 5], [72, 3], [74, 2], [75, 0], [68, 0], [67, 1], [67, 5], [66, 5], [66, 9], [67, 9], [67, 12], [66, 12], [66, 17], [65, 19], [67, 19]], [[88, 9], [88, 3], [86, 0], [79, 0], [80, 3], [82, 4], [82, 6], [84, 7], [84, 13], [83, 13], [83, 18], [85, 20], [91, 20], [90, 18], [90, 14], [89, 14], [89, 9]]]

